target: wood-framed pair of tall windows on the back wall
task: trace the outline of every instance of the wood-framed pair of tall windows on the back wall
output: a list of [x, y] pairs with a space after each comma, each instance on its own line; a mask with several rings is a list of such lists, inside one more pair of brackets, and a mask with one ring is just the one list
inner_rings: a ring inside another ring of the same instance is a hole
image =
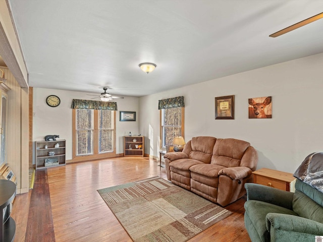
[[73, 109], [73, 161], [116, 155], [116, 111]]

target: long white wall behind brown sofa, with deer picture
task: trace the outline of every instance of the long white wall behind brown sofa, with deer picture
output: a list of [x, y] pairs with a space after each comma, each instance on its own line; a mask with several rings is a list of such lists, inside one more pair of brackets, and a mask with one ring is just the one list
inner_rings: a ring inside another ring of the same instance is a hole
[[[185, 99], [185, 140], [195, 136], [237, 138], [258, 151], [258, 168], [293, 173], [323, 145], [323, 54], [157, 93], [139, 100], [145, 153], [158, 156], [158, 100]], [[198, 70], [196, 70], [198, 71]], [[235, 95], [235, 119], [214, 119], [214, 97]], [[248, 98], [273, 97], [273, 118], [249, 119]]]

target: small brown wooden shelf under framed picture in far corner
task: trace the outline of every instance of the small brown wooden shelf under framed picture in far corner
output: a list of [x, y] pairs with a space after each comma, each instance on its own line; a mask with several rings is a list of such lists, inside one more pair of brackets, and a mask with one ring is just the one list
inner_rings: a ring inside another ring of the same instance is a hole
[[124, 156], [141, 156], [145, 153], [144, 136], [125, 136], [124, 137]]

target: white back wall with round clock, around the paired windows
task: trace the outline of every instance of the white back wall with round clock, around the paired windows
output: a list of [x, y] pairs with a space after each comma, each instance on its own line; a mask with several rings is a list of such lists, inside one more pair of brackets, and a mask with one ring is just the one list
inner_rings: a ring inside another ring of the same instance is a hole
[[[33, 141], [43, 140], [46, 135], [60, 135], [60, 139], [66, 140], [66, 159], [72, 159], [72, 99], [90, 99], [86, 95], [91, 93], [73, 92], [56, 89], [33, 88]], [[96, 93], [92, 93], [96, 95]], [[60, 97], [61, 104], [58, 107], [50, 107], [46, 104], [45, 99], [49, 95]], [[125, 97], [124, 99], [115, 99], [118, 111], [117, 119], [117, 154], [123, 151], [123, 136], [138, 134], [139, 127], [139, 98]], [[135, 111], [135, 122], [120, 122], [119, 111]]]

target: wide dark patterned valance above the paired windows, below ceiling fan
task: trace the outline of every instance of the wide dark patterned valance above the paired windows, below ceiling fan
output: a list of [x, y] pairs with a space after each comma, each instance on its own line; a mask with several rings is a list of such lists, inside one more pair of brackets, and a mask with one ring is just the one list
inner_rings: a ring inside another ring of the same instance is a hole
[[116, 102], [103, 102], [93, 100], [73, 99], [73, 109], [118, 110]]

